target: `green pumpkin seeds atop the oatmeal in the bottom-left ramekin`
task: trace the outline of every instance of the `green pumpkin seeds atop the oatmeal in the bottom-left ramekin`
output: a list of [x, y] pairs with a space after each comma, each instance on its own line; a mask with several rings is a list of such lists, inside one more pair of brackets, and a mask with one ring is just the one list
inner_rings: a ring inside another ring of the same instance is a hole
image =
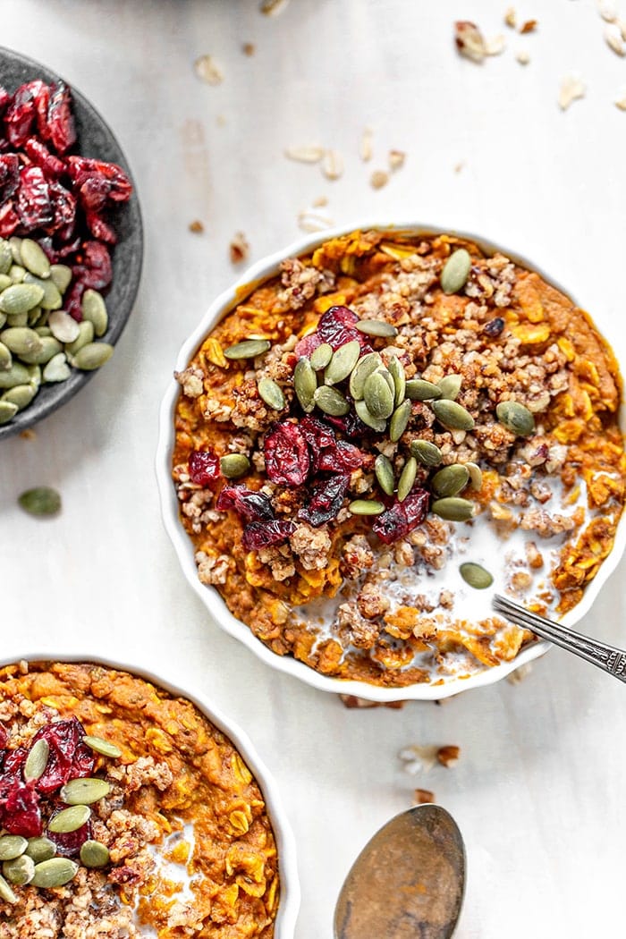
[[[101, 737], [85, 736], [84, 744], [94, 752], [111, 758], [121, 756], [121, 750], [115, 744]], [[43, 775], [50, 756], [50, 747], [40, 738], [31, 747], [24, 762], [23, 778], [25, 782], [37, 780]], [[68, 808], [62, 808], [48, 823], [48, 831], [67, 834], [77, 831], [87, 823], [91, 816], [91, 805], [104, 798], [111, 791], [106, 779], [82, 777], [70, 779], [59, 791], [59, 799]], [[109, 864], [109, 849], [101, 841], [88, 839], [83, 842], [80, 851], [81, 863], [85, 868], [104, 868]], [[12, 885], [38, 886], [51, 889], [69, 884], [78, 873], [80, 865], [69, 857], [56, 855], [56, 845], [44, 835], [38, 838], [23, 838], [21, 835], [0, 835], [0, 900], [17, 903]]]

